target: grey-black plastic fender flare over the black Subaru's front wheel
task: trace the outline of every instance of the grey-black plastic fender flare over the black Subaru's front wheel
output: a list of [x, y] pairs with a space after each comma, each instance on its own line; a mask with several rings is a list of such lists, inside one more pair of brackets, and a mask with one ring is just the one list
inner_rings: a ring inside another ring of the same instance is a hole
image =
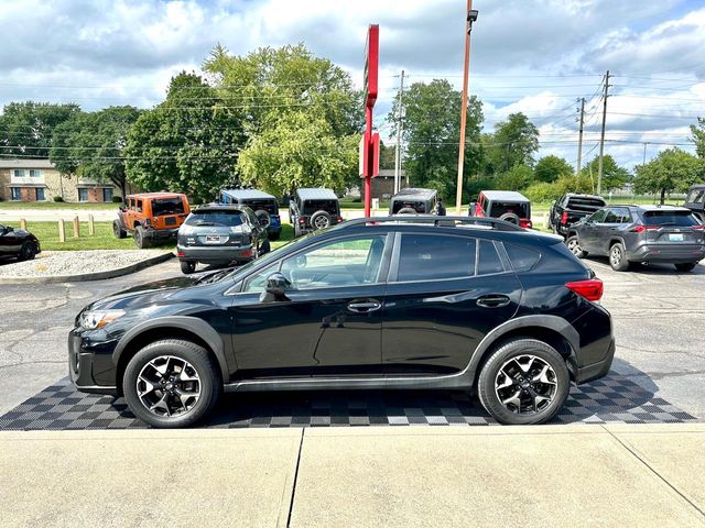
[[227, 381], [230, 377], [228, 361], [225, 354], [225, 344], [220, 334], [203, 319], [188, 316], [158, 317], [155, 319], [140, 322], [139, 324], [130, 328], [130, 330], [122, 334], [120, 341], [118, 341], [118, 345], [112, 352], [113, 364], [118, 364], [120, 355], [122, 355], [122, 352], [124, 352], [131, 341], [139, 338], [145, 331], [154, 330], [156, 328], [177, 328], [198, 336], [206, 342], [215, 354], [218, 366], [220, 367], [220, 373], [223, 374], [223, 380]]

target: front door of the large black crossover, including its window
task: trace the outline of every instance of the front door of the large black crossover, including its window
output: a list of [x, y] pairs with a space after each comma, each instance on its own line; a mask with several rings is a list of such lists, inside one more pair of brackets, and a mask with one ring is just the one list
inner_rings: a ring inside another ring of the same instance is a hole
[[[389, 253], [387, 234], [337, 237], [278, 260], [249, 276], [230, 314], [243, 377], [376, 374]], [[285, 300], [262, 301], [281, 272]]]

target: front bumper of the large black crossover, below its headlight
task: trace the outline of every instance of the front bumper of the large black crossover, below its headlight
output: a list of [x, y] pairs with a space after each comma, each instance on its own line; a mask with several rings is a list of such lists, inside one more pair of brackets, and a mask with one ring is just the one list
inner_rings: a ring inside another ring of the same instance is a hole
[[68, 334], [68, 375], [83, 393], [117, 395], [117, 370], [112, 350], [117, 340], [91, 342], [80, 329]]

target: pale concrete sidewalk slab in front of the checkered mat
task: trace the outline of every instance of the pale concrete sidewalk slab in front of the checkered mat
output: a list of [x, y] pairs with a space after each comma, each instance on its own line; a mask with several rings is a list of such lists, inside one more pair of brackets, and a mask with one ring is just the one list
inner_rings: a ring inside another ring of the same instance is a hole
[[705, 424], [0, 433], [7, 526], [705, 526]]

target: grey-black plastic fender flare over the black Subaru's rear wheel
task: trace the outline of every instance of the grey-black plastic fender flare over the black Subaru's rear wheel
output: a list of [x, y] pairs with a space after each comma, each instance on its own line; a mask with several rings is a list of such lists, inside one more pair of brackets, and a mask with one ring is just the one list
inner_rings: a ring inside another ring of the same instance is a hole
[[510, 319], [499, 327], [494, 328], [482, 338], [482, 340], [473, 352], [469, 363], [465, 367], [465, 375], [468, 376], [468, 381], [470, 383], [474, 383], [477, 367], [482, 361], [482, 358], [485, 358], [487, 352], [492, 348], [492, 345], [500, 341], [501, 338], [507, 333], [522, 328], [546, 328], [563, 336], [563, 338], [565, 338], [565, 340], [571, 345], [570, 359], [577, 365], [577, 358], [575, 354], [576, 351], [581, 349], [581, 337], [578, 336], [577, 330], [575, 330], [573, 324], [558, 316], [522, 316], [516, 319]]

